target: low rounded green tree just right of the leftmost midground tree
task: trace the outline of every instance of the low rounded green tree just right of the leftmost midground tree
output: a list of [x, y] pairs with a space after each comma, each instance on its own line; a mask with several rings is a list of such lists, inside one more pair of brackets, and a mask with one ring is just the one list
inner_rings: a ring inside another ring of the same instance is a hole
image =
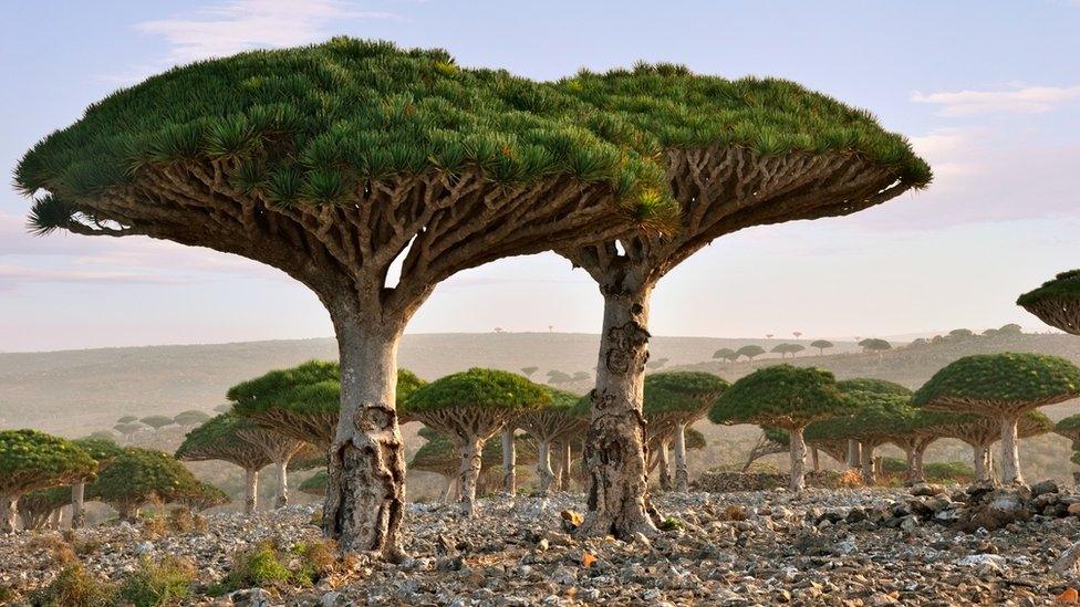
[[86, 486], [86, 499], [105, 502], [122, 520], [134, 521], [143, 504], [178, 501], [198, 482], [173, 456], [127, 447]]

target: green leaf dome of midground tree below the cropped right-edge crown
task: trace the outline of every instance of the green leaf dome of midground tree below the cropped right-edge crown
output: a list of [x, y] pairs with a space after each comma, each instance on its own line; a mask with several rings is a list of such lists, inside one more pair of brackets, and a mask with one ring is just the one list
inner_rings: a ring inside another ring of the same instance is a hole
[[967, 399], [993, 407], [1032, 405], [1080, 396], [1080, 368], [1045, 354], [980, 354], [965, 356], [934, 374], [915, 391], [918, 407], [936, 408], [948, 399]]

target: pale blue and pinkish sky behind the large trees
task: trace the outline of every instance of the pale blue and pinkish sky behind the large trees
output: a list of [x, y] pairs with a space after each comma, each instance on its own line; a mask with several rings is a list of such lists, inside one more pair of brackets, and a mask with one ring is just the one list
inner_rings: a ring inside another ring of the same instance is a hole
[[[538, 80], [637, 60], [799, 81], [873, 112], [930, 189], [724, 237], [667, 275], [655, 335], [851, 338], [1048, 331], [1016, 296], [1080, 265], [1080, 0], [8, 2], [0, 167], [112, 91], [173, 65], [339, 34], [447, 49]], [[0, 352], [332, 335], [312, 293], [233, 255], [143, 238], [31, 237], [0, 186]], [[602, 303], [553, 254], [442, 283], [411, 333], [595, 333]]]

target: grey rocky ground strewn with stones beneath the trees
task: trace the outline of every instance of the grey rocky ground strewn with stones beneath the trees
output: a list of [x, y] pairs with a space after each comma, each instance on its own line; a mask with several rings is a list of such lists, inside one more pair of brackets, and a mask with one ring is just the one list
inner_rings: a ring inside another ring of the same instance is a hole
[[[1080, 585], [1066, 555], [1080, 541], [1080, 495], [1034, 489], [671, 493], [654, 500], [666, 531], [631, 542], [572, 540], [567, 511], [582, 510], [581, 495], [482, 500], [475, 520], [413, 504], [415, 557], [401, 565], [353, 559], [313, 586], [216, 598], [205, 593], [236, 554], [318, 538], [313, 509], [211, 515], [205, 530], [164, 534], [102, 526], [69, 540], [101, 578], [120, 579], [142, 558], [191, 557], [190, 601], [202, 605], [1043, 605]], [[56, 532], [0, 537], [11, 600], [56, 575], [62, 544]]]

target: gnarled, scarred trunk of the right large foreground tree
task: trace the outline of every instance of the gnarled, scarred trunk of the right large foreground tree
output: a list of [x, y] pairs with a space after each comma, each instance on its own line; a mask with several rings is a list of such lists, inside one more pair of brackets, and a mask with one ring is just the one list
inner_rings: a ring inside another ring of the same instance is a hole
[[645, 473], [645, 417], [642, 388], [648, 360], [648, 297], [652, 286], [604, 292], [604, 323], [596, 387], [585, 440], [589, 512], [581, 535], [652, 535]]

